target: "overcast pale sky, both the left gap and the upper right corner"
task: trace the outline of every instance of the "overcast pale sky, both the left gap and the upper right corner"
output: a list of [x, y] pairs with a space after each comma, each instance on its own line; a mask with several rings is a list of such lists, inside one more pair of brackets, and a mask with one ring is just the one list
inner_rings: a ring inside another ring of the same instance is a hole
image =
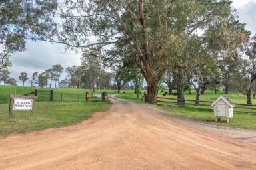
[[[256, 0], [234, 0], [233, 7], [237, 9], [239, 20], [246, 23], [246, 29], [254, 35], [256, 33]], [[11, 77], [17, 80], [18, 85], [21, 85], [18, 78], [21, 72], [27, 72], [31, 77], [33, 72], [43, 72], [54, 64], [61, 64], [64, 68], [78, 66], [80, 56], [81, 54], [65, 54], [64, 46], [61, 44], [27, 41], [25, 52], [11, 56], [13, 66], [9, 70]], [[29, 82], [26, 85], [29, 86]], [[53, 83], [51, 85], [53, 86]]]

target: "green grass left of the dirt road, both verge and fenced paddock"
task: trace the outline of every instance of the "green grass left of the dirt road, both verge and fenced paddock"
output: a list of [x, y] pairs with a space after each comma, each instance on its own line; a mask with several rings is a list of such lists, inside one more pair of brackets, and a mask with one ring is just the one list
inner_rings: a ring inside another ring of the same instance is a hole
[[[94, 112], [107, 110], [111, 104], [102, 102], [101, 98], [91, 98], [89, 102], [85, 102], [85, 92], [89, 92], [89, 90], [58, 88], [54, 89], [55, 97], [58, 93], [63, 93], [63, 96], [67, 96], [64, 98], [66, 102], [58, 102], [58, 100], [49, 102], [48, 93], [47, 98], [39, 95], [39, 100], [35, 102], [35, 114], [32, 118], [27, 111], [14, 111], [13, 117], [9, 118], [9, 94], [24, 95], [33, 92], [34, 89], [22, 86], [0, 86], [0, 134], [22, 133], [77, 124], [91, 118]], [[39, 88], [39, 90], [49, 92], [49, 89], [45, 88]], [[103, 90], [97, 93], [100, 92]], [[77, 100], [76, 94], [81, 95], [79, 100]]]

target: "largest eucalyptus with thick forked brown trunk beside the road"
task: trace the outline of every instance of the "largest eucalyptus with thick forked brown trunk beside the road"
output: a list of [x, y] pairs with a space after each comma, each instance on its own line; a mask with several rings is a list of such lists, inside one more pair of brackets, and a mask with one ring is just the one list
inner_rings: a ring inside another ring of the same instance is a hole
[[230, 13], [230, 3], [224, 0], [65, 0], [60, 8], [63, 28], [51, 42], [71, 48], [127, 46], [147, 82], [147, 101], [155, 104], [157, 84], [167, 61], [173, 61], [173, 54], [164, 52], [167, 42], [176, 32], [191, 34]]

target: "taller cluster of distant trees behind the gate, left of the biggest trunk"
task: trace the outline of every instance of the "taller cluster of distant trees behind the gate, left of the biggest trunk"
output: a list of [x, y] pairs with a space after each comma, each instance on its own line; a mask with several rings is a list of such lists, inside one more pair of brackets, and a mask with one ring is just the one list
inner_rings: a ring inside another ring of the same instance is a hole
[[[127, 87], [133, 82], [135, 92], [141, 90], [143, 76], [138, 68], [118, 63], [103, 62], [101, 54], [95, 48], [83, 52], [81, 66], [70, 66], [65, 69], [67, 77], [59, 83], [63, 88], [117, 89]], [[134, 65], [134, 64], [133, 64]]]

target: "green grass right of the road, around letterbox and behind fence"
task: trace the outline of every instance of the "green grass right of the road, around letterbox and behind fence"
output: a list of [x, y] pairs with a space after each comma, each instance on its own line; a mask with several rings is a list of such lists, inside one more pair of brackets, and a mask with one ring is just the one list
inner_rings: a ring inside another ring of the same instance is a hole
[[[177, 96], [163, 96], [164, 92], [160, 92], [158, 96], [164, 98], [172, 98], [175, 100], [166, 100], [171, 102], [177, 101]], [[126, 95], [126, 96], [125, 96]], [[136, 94], [121, 94], [117, 97], [123, 98], [126, 100], [137, 101]], [[223, 92], [214, 92], [206, 91], [204, 95], [201, 95], [201, 100], [207, 100], [213, 102], [219, 96], [225, 95], [228, 96], [233, 102], [246, 104], [247, 98], [245, 95], [240, 93], [231, 92], [229, 94], [224, 94]], [[188, 92], [185, 92], [185, 98], [187, 100], [195, 100], [195, 92], [193, 95], [189, 95]], [[161, 99], [163, 100], [163, 99]], [[194, 103], [194, 102], [189, 102]], [[233, 128], [245, 128], [245, 129], [253, 129], [256, 130], [256, 107], [255, 106], [247, 106], [247, 108], [253, 109], [238, 109], [234, 110], [234, 118], [233, 121], [229, 124], [226, 123], [225, 118], [222, 119], [221, 122], [215, 123], [215, 118], [213, 116], [213, 107], [209, 106], [195, 106], [195, 105], [187, 105], [187, 106], [177, 106], [176, 104], [169, 104], [164, 102], [159, 102], [157, 107], [165, 110], [167, 116], [175, 117], [175, 118], [189, 118], [191, 120], [203, 121], [203, 122], [211, 122], [213, 124], [218, 124], [221, 126], [229, 126]], [[256, 100], [253, 99], [253, 104], [256, 104]]]

